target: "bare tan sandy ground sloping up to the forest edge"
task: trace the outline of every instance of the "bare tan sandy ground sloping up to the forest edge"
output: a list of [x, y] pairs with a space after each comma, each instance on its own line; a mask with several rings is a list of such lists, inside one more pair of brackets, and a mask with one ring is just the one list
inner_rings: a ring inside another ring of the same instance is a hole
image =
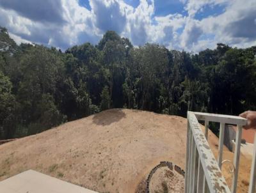
[[[211, 132], [209, 143], [216, 153]], [[97, 192], [135, 192], [160, 161], [184, 168], [185, 157], [185, 118], [112, 109], [2, 144], [0, 180], [33, 169]], [[225, 148], [223, 157], [232, 160], [233, 153]], [[251, 160], [241, 160], [237, 192], [246, 192]]]

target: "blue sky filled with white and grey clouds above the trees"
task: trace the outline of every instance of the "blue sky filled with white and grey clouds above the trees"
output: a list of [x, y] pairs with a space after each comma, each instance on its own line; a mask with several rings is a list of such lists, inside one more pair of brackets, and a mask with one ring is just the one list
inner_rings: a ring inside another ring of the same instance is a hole
[[134, 45], [198, 52], [256, 45], [255, 0], [0, 0], [0, 26], [17, 42], [62, 50], [115, 30]]

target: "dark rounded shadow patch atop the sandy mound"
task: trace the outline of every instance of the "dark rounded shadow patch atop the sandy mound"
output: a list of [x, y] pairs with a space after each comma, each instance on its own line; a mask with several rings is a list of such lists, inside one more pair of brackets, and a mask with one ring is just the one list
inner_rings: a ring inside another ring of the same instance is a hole
[[95, 114], [92, 118], [93, 123], [97, 125], [110, 125], [111, 123], [118, 122], [125, 118], [123, 109], [109, 109]]

